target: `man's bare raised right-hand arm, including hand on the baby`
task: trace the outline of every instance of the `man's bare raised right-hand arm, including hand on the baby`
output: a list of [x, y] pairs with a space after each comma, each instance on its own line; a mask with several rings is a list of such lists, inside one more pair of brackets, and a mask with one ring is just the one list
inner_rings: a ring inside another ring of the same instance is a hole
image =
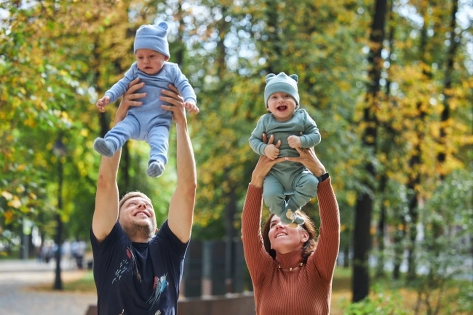
[[173, 112], [177, 138], [177, 187], [169, 202], [168, 223], [172, 233], [186, 243], [191, 237], [194, 205], [196, 202], [197, 172], [194, 151], [187, 129], [183, 100], [177, 89], [169, 85], [171, 91], [163, 90], [161, 100], [173, 106], [163, 105]]

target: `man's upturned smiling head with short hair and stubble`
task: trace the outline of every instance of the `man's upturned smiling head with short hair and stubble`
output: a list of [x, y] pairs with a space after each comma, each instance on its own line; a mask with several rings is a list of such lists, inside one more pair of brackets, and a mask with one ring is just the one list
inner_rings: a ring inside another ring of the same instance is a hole
[[156, 233], [151, 200], [144, 194], [128, 198], [120, 208], [118, 222], [133, 242], [148, 242]]

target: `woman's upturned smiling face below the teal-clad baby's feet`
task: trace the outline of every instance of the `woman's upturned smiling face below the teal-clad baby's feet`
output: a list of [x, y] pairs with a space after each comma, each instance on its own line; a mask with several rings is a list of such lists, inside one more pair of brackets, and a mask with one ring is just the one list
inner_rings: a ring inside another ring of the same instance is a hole
[[280, 254], [294, 250], [302, 250], [304, 243], [309, 239], [309, 234], [300, 225], [296, 228], [281, 223], [277, 215], [273, 215], [268, 232], [271, 248]]

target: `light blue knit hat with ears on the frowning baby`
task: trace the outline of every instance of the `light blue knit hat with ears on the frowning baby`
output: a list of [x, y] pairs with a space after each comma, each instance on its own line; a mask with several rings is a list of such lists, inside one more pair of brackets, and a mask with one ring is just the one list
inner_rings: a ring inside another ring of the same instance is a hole
[[141, 25], [136, 31], [134, 52], [138, 49], [151, 49], [170, 57], [168, 44], [168, 23]]

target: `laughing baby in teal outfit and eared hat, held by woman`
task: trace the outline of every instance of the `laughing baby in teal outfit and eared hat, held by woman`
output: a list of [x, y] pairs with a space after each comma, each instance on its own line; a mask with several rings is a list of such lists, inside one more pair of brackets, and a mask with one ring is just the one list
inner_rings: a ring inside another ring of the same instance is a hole
[[[297, 157], [296, 148], [310, 148], [320, 143], [321, 136], [315, 121], [299, 108], [297, 74], [281, 72], [266, 76], [265, 105], [270, 113], [261, 116], [249, 143], [260, 155], [271, 160], [277, 157]], [[281, 141], [279, 148], [263, 142], [263, 133]], [[276, 163], [263, 183], [263, 199], [271, 213], [290, 226], [303, 224], [304, 218], [296, 214], [317, 194], [319, 180], [299, 162]], [[289, 199], [286, 201], [286, 197]]]

